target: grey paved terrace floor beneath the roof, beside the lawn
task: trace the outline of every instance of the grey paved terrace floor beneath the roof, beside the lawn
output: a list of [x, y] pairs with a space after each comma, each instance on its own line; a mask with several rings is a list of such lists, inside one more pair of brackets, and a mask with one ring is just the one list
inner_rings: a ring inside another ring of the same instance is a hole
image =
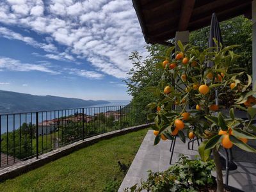
[[[255, 141], [250, 144], [256, 147]], [[125, 188], [136, 183], [140, 184], [141, 179], [146, 180], [148, 170], [157, 172], [168, 169], [171, 156], [170, 145], [171, 141], [160, 141], [158, 145], [154, 146], [153, 131], [148, 131], [118, 191], [124, 191]], [[188, 150], [187, 146], [187, 143], [184, 144], [177, 138], [172, 164], [179, 159], [179, 154], [189, 156], [191, 159], [198, 156], [196, 142], [194, 150]], [[229, 172], [228, 184], [243, 191], [256, 191], [256, 154], [243, 152], [236, 147], [233, 148], [233, 154], [238, 168]], [[225, 180], [225, 172], [223, 174]]]

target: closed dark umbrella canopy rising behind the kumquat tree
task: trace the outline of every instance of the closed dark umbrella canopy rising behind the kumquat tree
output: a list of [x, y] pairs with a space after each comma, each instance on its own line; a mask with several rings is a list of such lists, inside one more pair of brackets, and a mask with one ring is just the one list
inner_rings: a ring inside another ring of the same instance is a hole
[[[216, 47], [217, 46], [215, 44], [213, 38], [216, 38], [216, 40], [218, 41], [218, 47], [220, 47], [220, 43], [222, 44], [220, 24], [218, 22], [218, 19], [217, 19], [215, 13], [212, 13], [208, 47]], [[213, 65], [214, 65], [213, 62], [207, 63], [207, 67], [212, 67]]]

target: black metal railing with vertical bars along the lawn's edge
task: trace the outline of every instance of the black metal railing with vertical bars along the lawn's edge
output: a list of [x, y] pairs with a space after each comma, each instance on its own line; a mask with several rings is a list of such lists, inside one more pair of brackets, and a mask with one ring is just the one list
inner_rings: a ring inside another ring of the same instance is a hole
[[0, 115], [0, 167], [37, 157], [104, 132], [147, 123], [132, 106], [61, 109]]

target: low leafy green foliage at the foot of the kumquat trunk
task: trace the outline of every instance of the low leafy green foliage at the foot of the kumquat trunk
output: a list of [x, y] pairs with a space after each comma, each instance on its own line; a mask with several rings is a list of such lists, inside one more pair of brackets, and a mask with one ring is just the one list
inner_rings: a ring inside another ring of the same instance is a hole
[[[204, 191], [214, 188], [214, 179], [211, 171], [213, 161], [203, 162], [199, 159], [189, 160], [180, 155], [179, 161], [164, 172], [149, 171], [147, 181], [129, 188], [133, 191]], [[129, 191], [125, 189], [125, 191]]]

